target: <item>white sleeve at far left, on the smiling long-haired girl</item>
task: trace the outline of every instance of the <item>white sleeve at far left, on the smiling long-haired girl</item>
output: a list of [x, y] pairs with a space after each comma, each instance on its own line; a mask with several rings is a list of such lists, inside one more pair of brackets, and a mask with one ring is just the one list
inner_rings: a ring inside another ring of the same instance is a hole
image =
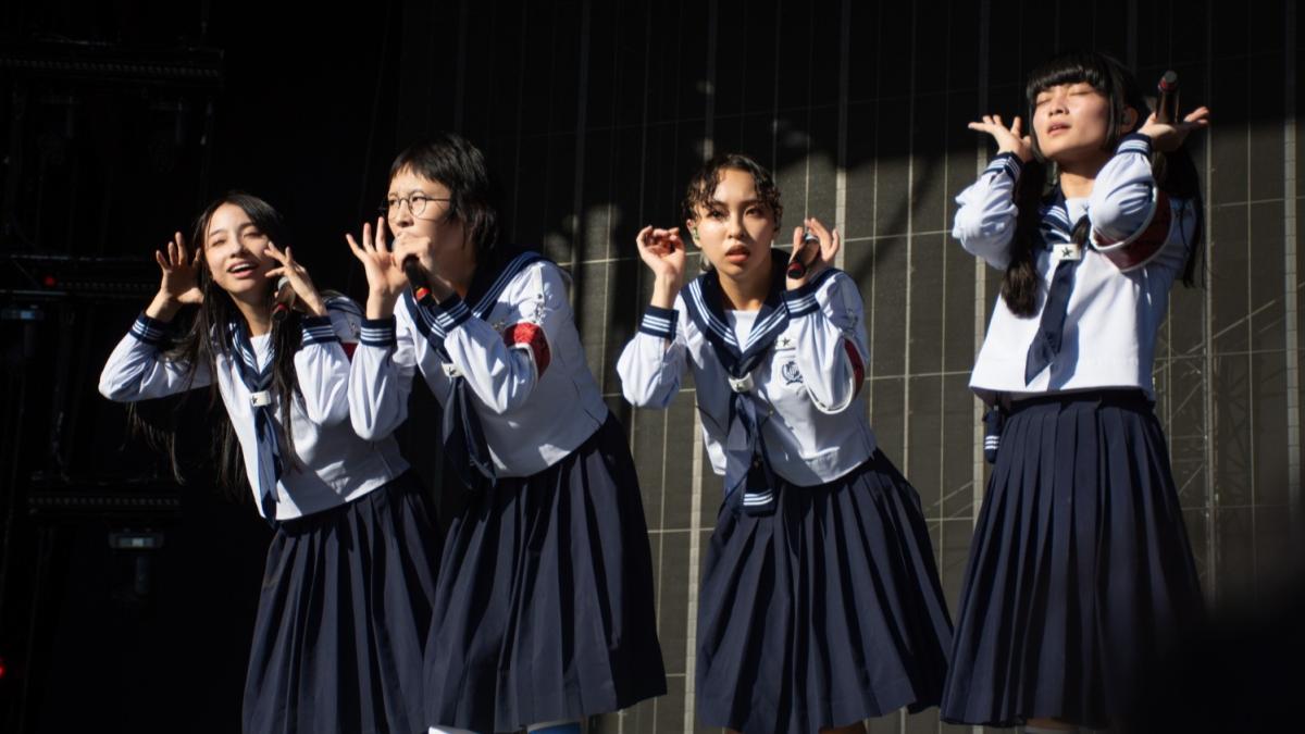
[[192, 379], [187, 364], [162, 357], [167, 328], [166, 321], [141, 313], [108, 355], [99, 375], [99, 393], [117, 402], [134, 402], [209, 385], [206, 364], [200, 364]]

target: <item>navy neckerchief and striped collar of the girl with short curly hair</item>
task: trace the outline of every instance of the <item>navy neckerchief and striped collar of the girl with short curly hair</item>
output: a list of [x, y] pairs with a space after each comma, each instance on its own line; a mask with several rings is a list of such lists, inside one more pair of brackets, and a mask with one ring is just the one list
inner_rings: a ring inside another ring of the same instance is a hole
[[[720, 274], [709, 270], [684, 286], [684, 299], [688, 316], [706, 337], [729, 377], [729, 414], [726, 421], [726, 443], [739, 421], [748, 439], [748, 469], [740, 470], [726, 462], [726, 498], [744, 487], [743, 507], [749, 515], [769, 515], [775, 511], [775, 473], [770, 468], [766, 443], [761, 435], [761, 413], [753, 391], [752, 372], [770, 354], [775, 340], [788, 328], [788, 306], [784, 302], [784, 270], [788, 266], [788, 253], [771, 249], [770, 291], [757, 313], [757, 320], [748, 334], [748, 341], [739, 343], [724, 313], [724, 295], [720, 293]], [[834, 274], [829, 268], [816, 276], [818, 283]], [[728, 448], [727, 448], [728, 451]]]

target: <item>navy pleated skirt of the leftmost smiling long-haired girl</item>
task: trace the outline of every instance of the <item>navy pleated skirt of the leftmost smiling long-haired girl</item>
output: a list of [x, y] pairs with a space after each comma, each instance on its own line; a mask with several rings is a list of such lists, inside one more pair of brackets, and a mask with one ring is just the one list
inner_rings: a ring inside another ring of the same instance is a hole
[[411, 473], [277, 526], [258, 598], [245, 734], [424, 730], [438, 528]]

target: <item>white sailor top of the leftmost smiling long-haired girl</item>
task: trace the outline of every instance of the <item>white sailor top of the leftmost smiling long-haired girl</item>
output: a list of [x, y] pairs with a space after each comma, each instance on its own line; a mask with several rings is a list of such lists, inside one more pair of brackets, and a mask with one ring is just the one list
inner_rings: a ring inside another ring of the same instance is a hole
[[[291, 520], [348, 503], [399, 477], [408, 465], [394, 439], [378, 435], [363, 440], [348, 422], [348, 351], [358, 340], [361, 312], [346, 298], [330, 298], [328, 315], [304, 317], [303, 341], [295, 353], [295, 375], [303, 400], [291, 406], [295, 462], [284, 461], [275, 482], [275, 520]], [[134, 402], [207, 387], [213, 375], [206, 366], [187, 380], [187, 366], [164, 359], [168, 324], [137, 317], [117, 343], [99, 377], [99, 392], [110, 400]], [[271, 355], [271, 336], [249, 340], [260, 368]], [[254, 428], [254, 396], [245, 387], [235, 358], [214, 355], [218, 392], [226, 405], [245, 473], [260, 515], [260, 445]], [[279, 398], [270, 394], [273, 419], [281, 422]]]

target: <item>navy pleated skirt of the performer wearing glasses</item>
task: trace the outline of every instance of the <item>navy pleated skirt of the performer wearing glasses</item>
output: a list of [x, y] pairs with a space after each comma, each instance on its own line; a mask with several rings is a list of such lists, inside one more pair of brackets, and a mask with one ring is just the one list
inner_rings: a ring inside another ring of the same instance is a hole
[[513, 731], [666, 694], [639, 485], [609, 415], [553, 466], [474, 492], [440, 563], [427, 724]]

